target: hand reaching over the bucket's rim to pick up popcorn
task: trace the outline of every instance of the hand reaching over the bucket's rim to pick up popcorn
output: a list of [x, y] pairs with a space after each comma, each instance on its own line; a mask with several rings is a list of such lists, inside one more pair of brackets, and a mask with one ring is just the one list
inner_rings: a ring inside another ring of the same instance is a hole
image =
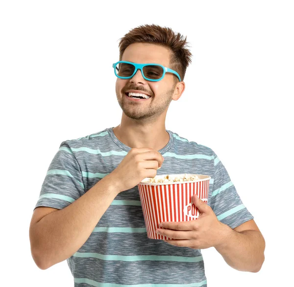
[[132, 148], [109, 176], [119, 183], [119, 192], [126, 191], [144, 178], [156, 176], [163, 161], [163, 156], [151, 147]]

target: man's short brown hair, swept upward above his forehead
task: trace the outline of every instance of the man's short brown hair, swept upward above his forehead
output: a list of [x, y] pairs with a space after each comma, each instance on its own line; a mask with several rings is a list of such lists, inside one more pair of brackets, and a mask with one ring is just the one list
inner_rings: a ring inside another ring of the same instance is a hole
[[192, 63], [192, 53], [186, 48], [188, 46], [186, 39], [187, 36], [184, 38], [180, 33], [173, 32], [171, 28], [155, 24], [141, 25], [130, 30], [120, 39], [120, 61], [124, 50], [133, 43], [158, 44], [170, 49], [172, 52], [170, 68], [178, 72], [183, 81], [187, 67]]

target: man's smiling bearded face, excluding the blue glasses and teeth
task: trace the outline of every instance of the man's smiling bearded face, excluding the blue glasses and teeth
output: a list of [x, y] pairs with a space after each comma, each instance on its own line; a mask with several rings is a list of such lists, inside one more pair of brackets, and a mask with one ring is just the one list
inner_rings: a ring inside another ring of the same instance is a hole
[[[134, 43], [123, 52], [122, 61], [139, 64], [161, 64], [170, 67], [170, 51], [167, 48], [149, 43]], [[116, 95], [123, 113], [134, 120], [144, 120], [152, 116], [160, 116], [170, 105], [175, 87], [174, 75], [166, 73], [164, 78], [157, 82], [143, 78], [141, 70], [130, 79], [117, 78]], [[138, 90], [150, 96], [144, 100], [132, 100], [126, 92]]]

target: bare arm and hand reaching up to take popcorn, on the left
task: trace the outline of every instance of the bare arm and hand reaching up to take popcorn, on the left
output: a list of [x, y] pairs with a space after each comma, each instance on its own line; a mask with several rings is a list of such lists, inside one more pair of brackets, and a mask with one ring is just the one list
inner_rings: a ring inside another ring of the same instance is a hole
[[66, 208], [35, 209], [29, 238], [37, 266], [47, 269], [71, 257], [90, 237], [114, 198], [142, 179], [154, 177], [163, 160], [150, 147], [132, 148], [117, 168]]

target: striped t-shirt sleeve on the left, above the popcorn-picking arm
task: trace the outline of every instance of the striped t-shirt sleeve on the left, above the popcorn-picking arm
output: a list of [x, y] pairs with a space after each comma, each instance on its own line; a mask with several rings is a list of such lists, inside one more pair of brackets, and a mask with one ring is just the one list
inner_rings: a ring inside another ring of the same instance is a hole
[[79, 164], [67, 141], [62, 142], [49, 165], [34, 209], [39, 206], [63, 209], [84, 193]]

